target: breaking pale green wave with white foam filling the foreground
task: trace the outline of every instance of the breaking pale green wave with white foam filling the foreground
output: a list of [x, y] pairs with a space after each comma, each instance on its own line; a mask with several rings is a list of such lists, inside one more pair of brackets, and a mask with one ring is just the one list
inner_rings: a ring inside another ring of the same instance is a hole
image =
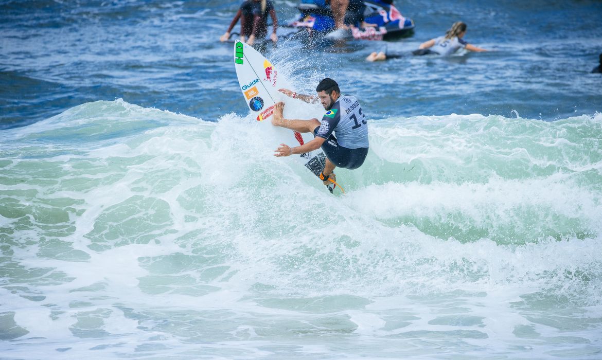
[[119, 100], [12, 129], [4, 353], [592, 352], [600, 120], [372, 119], [367, 161], [337, 170], [335, 196], [272, 156], [278, 130], [236, 114]]

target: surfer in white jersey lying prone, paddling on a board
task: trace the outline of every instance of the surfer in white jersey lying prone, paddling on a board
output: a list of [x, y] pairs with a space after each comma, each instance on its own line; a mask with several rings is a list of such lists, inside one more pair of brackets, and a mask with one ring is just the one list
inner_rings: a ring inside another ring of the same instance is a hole
[[[474, 45], [470, 45], [464, 39], [466, 34], [467, 26], [464, 22], [458, 21], [453, 23], [452, 27], [447, 30], [444, 36], [436, 37], [427, 42], [421, 43], [418, 50], [412, 51], [414, 55], [427, 55], [427, 54], [438, 54], [442, 56], [448, 56], [454, 54], [458, 49], [464, 48], [469, 51], [482, 52], [488, 51], [486, 49], [477, 48]], [[384, 52], [373, 52], [366, 60], [368, 61], [379, 61], [386, 60], [387, 58], [399, 57], [399, 55], [386, 55]]]

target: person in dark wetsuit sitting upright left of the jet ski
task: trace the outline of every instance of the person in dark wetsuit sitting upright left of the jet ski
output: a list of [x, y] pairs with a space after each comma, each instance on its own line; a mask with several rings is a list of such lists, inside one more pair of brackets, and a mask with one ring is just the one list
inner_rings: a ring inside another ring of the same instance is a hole
[[268, 14], [272, 17], [273, 22], [273, 31], [270, 39], [273, 42], [277, 42], [276, 29], [278, 29], [278, 17], [276, 17], [276, 8], [270, 0], [247, 0], [243, 2], [234, 19], [232, 19], [228, 30], [220, 37], [220, 41], [225, 42], [230, 39], [230, 31], [232, 31], [238, 19], [240, 19], [241, 41], [253, 45], [255, 39], [264, 39], [267, 35]]

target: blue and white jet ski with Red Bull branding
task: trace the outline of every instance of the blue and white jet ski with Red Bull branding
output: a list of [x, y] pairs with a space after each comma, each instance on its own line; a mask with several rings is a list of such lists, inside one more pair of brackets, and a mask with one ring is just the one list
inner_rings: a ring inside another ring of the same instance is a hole
[[379, 0], [364, 0], [364, 23], [347, 11], [345, 23], [349, 30], [335, 29], [332, 10], [325, 0], [303, 0], [297, 6], [300, 16], [288, 27], [305, 31], [308, 36], [325, 36], [331, 39], [393, 40], [414, 34], [414, 20], [405, 17], [393, 5]]

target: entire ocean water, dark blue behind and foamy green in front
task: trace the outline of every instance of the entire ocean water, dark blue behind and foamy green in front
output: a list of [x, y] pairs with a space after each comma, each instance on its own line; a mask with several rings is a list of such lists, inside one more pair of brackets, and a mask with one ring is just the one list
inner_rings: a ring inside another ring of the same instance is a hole
[[[407, 39], [265, 49], [361, 101], [335, 196], [249, 116], [239, 3], [0, 1], [0, 358], [602, 357], [599, 1], [399, 2]], [[456, 20], [495, 51], [364, 61]]]

